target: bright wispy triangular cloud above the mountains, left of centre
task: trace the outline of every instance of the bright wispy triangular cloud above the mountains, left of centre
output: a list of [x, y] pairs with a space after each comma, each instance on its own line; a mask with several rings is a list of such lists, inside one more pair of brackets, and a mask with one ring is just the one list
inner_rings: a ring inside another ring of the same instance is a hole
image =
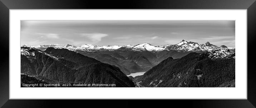
[[97, 43], [97, 42], [100, 42], [103, 37], [108, 36], [108, 34], [103, 34], [103, 33], [82, 33], [82, 34], [80, 34], [80, 36], [87, 37], [91, 41], [93, 41], [93, 43]]

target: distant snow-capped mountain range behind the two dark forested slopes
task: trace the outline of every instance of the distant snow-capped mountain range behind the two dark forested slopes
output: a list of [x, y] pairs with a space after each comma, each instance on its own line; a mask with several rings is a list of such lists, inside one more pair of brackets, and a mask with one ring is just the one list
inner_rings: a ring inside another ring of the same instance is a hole
[[217, 47], [216, 45], [206, 42], [205, 44], [198, 44], [195, 42], [187, 42], [182, 40], [178, 44], [174, 45], [159, 45], [154, 46], [148, 43], [137, 45], [108, 45], [98, 46], [84, 44], [79, 47], [67, 44], [64, 46], [57, 45], [38, 45], [24, 47], [35, 48], [39, 50], [46, 50], [49, 47], [56, 49], [68, 49], [74, 52], [78, 52], [85, 56], [94, 58], [103, 63], [117, 66], [124, 74], [129, 75], [134, 72], [148, 71], [153, 66], [156, 66], [164, 59], [172, 57], [173, 59], [181, 58], [191, 52], [204, 53], [204, 52], [216, 52], [215, 56], [223, 58], [233, 54], [235, 48], [228, 48], [225, 45]]

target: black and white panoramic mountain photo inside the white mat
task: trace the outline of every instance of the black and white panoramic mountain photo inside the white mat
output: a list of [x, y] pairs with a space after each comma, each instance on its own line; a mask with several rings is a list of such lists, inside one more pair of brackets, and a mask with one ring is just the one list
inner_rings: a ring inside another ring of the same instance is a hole
[[235, 87], [233, 20], [21, 20], [21, 87]]

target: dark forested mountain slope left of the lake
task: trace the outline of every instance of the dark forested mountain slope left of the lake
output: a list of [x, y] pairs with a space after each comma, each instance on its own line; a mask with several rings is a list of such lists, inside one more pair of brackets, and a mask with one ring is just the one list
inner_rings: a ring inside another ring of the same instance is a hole
[[21, 47], [21, 74], [59, 83], [115, 84], [115, 87], [134, 87], [133, 82], [114, 65], [102, 63], [68, 49], [41, 50]]

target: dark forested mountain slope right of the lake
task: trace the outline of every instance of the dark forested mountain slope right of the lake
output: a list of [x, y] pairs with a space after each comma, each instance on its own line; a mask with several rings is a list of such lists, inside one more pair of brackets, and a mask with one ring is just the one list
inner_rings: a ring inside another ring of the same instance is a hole
[[235, 87], [235, 53], [225, 58], [212, 58], [214, 54], [169, 57], [134, 81], [141, 87]]

